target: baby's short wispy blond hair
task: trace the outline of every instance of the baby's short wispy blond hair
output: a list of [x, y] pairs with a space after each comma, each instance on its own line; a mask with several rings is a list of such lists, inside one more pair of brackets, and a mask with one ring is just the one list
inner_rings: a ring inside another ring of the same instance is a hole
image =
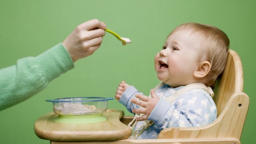
[[206, 86], [214, 88], [216, 79], [222, 74], [226, 64], [230, 43], [228, 36], [219, 28], [198, 23], [181, 24], [177, 26], [170, 35], [182, 29], [192, 30], [192, 33], [198, 32], [197, 34], [201, 39], [203, 50], [200, 57], [202, 61], [208, 61], [212, 65], [207, 75], [208, 82]]

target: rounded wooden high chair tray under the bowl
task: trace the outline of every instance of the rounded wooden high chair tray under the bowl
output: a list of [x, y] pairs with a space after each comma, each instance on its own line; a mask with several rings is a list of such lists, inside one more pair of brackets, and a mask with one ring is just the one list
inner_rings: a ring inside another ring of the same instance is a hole
[[58, 115], [50, 112], [41, 116], [34, 124], [39, 138], [53, 141], [108, 141], [128, 138], [132, 130], [120, 122], [124, 111], [108, 109], [103, 113], [104, 122], [92, 124], [65, 124], [55, 122]]

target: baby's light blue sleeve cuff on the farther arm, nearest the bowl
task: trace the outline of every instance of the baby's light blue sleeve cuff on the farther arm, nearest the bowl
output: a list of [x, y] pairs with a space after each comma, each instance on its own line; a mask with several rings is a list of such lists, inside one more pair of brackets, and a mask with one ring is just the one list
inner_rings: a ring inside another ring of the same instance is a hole
[[139, 108], [140, 106], [131, 102], [132, 98], [135, 98], [136, 94], [142, 94], [139, 92], [134, 86], [129, 86], [125, 91], [124, 94], [121, 96], [119, 102], [126, 106], [127, 110], [132, 113], [132, 109]]

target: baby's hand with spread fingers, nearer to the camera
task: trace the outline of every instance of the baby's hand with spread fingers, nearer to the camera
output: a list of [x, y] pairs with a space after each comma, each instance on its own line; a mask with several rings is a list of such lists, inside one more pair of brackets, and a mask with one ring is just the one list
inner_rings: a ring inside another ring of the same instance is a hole
[[143, 96], [141, 94], [136, 94], [135, 97], [139, 98], [140, 100], [136, 100], [135, 98], [131, 100], [132, 103], [142, 106], [142, 108], [133, 109], [132, 112], [138, 114], [145, 114], [139, 118], [136, 118], [137, 121], [147, 120], [148, 116], [151, 114], [151, 112], [153, 111], [154, 107], [156, 106], [160, 99], [156, 95], [154, 89], [150, 91], [150, 94], [152, 98], [148, 96]]

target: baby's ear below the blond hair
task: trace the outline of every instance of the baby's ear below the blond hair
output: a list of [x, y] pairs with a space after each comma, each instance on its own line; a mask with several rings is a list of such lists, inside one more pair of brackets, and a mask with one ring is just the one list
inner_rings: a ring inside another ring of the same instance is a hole
[[208, 61], [202, 62], [194, 72], [194, 77], [204, 78], [211, 70], [212, 65]]

